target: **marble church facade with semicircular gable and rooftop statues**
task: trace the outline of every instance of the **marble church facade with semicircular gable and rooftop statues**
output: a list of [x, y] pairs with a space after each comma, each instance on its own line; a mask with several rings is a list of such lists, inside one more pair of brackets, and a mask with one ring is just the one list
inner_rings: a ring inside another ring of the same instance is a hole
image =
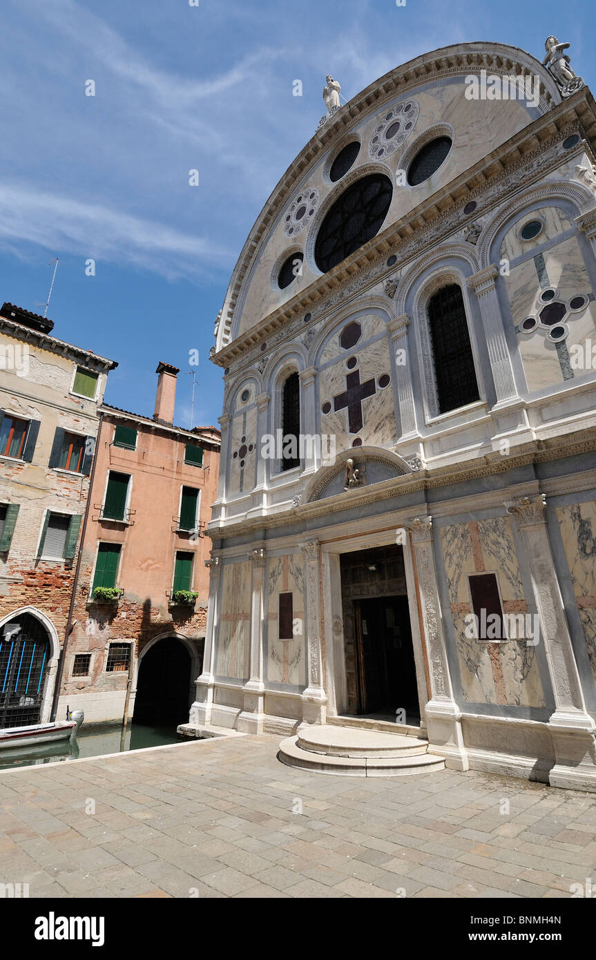
[[376, 718], [596, 789], [596, 106], [563, 49], [327, 78], [218, 319], [188, 731]]

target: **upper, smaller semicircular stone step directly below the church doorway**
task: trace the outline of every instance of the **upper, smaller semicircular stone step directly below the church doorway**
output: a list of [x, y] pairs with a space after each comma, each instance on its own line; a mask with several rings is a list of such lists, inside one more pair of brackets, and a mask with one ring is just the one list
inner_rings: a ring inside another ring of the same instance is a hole
[[298, 731], [297, 746], [311, 754], [373, 758], [425, 754], [428, 741], [401, 733], [312, 724]]

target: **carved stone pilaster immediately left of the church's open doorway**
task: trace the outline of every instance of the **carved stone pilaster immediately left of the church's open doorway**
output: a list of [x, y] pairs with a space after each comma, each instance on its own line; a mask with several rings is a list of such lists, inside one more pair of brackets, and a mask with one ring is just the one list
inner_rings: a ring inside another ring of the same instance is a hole
[[308, 677], [308, 686], [302, 693], [302, 718], [304, 723], [324, 723], [327, 697], [322, 684], [321, 546], [319, 540], [309, 540], [300, 549], [304, 553], [306, 574], [304, 641]]

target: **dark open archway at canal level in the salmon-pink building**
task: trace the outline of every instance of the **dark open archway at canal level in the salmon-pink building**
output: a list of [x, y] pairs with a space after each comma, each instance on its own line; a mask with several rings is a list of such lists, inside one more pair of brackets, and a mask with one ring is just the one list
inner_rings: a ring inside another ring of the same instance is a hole
[[175, 636], [157, 640], [138, 665], [133, 721], [178, 725], [188, 719], [191, 656]]

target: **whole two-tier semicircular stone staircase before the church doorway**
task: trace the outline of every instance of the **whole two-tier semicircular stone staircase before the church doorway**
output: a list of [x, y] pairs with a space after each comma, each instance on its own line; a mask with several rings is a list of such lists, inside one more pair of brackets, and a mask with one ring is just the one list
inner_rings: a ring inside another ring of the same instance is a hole
[[346, 721], [334, 717], [333, 723], [298, 729], [281, 741], [278, 758], [289, 767], [349, 777], [412, 777], [444, 769], [442, 756], [427, 752], [428, 740], [416, 728], [383, 723], [379, 730], [363, 726], [367, 721]]

